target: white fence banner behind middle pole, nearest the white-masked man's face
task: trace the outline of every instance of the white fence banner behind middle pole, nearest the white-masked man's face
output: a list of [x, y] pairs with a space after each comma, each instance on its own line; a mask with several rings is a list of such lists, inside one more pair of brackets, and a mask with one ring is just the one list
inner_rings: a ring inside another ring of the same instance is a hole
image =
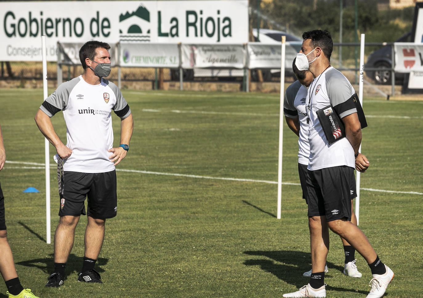
[[[248, 68], [278, 68], [280, 69], [282, 44], [261, 44], [259, 42], [248, 43]], [[297, 56], [301, 42], [286, 43], [285, 45], [285, 68], [292, 68], [292, 61]]]

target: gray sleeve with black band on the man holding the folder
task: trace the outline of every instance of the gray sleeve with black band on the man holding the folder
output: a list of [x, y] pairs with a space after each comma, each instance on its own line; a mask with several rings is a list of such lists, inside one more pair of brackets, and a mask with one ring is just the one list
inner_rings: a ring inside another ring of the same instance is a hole
[[330, 98], [333, 109], [339, 118], [351, 115], [357, 112], [352, 96], [354, 88], [348, 82], [348, 79], [339, 71], [333, 70], [326, 76], [326, 90]]

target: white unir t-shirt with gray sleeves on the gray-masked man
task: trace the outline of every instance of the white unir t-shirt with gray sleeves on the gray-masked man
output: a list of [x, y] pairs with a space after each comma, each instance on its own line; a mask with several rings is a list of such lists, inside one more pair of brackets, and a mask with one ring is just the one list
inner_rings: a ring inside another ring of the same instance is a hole
[[60, 86], [41, 105], [49, 117], [63, 111], [66, 123], [66, 147], [71, 156], [63, 163], [64, 171], [102, 173], [115, 170], [107, 152], [113, 148], [111, 111], [121, 119], [131, 114], [131, 109], [119, 88], [102, 79], [101, 84], [91, 85], [76, 77]]

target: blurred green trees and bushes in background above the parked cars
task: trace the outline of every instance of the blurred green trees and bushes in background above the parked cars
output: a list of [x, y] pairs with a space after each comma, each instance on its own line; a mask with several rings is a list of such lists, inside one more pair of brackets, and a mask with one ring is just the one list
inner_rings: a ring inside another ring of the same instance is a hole
[[[343, 0], [343, 42], [354, 42], [355, 0]], [[327, 29], [334, 42], [339, 41], [340, 0], [251, 0], [256, 26], [261, 15], [261, 27], [286, 30], [297, 36], [314, 29]], [[414, 7], [379, 10], [376, 0], [357, 0], [358, 32], [366, 34], [368, 42], [395, 41], [412, 27]]]

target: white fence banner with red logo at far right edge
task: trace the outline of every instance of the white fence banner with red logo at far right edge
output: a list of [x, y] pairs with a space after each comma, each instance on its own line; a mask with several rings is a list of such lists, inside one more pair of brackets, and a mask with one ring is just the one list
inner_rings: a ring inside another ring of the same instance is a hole
[[396, 42], [394, 51], [396, 72], [423, 72], [423, 44]]

